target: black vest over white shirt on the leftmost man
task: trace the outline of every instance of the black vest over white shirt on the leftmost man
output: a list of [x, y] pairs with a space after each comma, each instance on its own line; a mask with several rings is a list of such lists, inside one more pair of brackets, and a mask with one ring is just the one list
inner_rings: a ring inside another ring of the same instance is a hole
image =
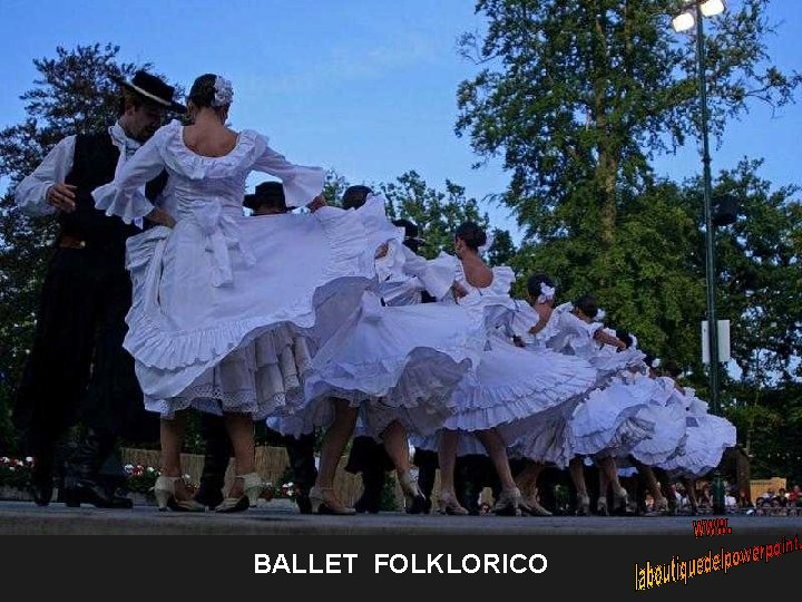
[[[59, 237], [71, 236], [85, 241], [87, 249], [125, 254], [126, 240], [139, 229], [96, 210], [91, 196], [95, 188], [114, 179], [118, 158], [119, 149], [107, 133], [76, 136], [72, 169], [66, 178], [67, 184], [76, 186], [76, 208], [72, 213], [59, 212]], [[153, 201], [166, 184], [167, 172], [162, 172], [145, 186], [146, 196]]]

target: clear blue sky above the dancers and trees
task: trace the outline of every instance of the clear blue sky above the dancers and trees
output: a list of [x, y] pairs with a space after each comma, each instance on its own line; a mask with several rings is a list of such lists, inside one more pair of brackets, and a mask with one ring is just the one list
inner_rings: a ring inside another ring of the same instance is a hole
[[[769, 40], [775, 64], [799, 69], [798, 2], [774, 0], [769, 18], [782, 21]], [[414, 168], [430, 185], [449, 178], [482, 198], [508, 177], [495, 162], [472, 169], [477, 157], [453, 134], [457, 86], [476, 71], [458, 56], [457, 38], [481, 25], [472, 0], [0, 0], [0, 127], [23, 117], [18, 97], [36, 77], [33, 58], [53, 56], [58, 45], [110, 41], [121, 59], [153, 61], [187, 88], [202, 72], [225, 75], [235, 89], [233, 126], [268, 135], [291, 161], [333, 167], [352, 183]], [[714, 148], [714, 173], [745, 155], [764, 157], [765, 177], [802, 185], [801, 124], [802, 105], [774, 116], [755, 105]], [[692, 143], [657, 169], [682, 178], [700, 165]], [[507, 210], [487, 208], [493, 225], [515, 227]]]

